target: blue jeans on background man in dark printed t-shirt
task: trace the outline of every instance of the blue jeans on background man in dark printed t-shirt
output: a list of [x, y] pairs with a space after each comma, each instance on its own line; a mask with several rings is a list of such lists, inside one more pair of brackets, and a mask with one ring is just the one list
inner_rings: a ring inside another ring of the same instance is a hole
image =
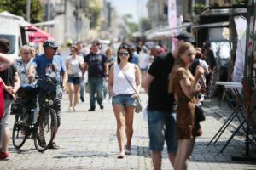
[[[88, 77], [90, 87], [90, 108], [95, 109], [95, 101], [102, 105], [103, 100], [103, 77]], [[96, 97], [95, 97], [96, 93]]]

